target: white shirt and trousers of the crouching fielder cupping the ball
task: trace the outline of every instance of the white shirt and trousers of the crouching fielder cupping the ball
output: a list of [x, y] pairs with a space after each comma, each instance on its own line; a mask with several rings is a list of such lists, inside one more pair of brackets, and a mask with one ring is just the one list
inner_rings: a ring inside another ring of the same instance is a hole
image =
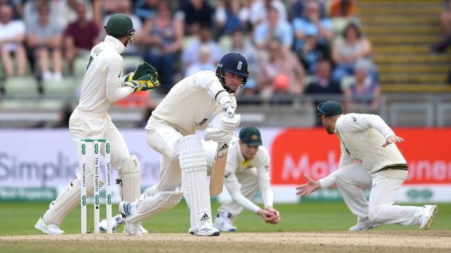
[[[203, 147], [207, 153], [207, 168], [210, 171], [214, 165], [217, 143], [204, 141]], [[221, 205], [218, 211], [232, 214], [232, 219], [235, 219], [244, 208], [257, 213], [261, 208], [251, 201], [257, 191], [261, 191], [264, 207], [272, 207], [273, 190], [271, 189], [269, 166], [269, 152], [265, 147], [259, 146], [255, 157], [246, 160], [239, 146], [239, 138], [232, 138], [224, 174], [224, 185], [232, 196], [232, 200]]]

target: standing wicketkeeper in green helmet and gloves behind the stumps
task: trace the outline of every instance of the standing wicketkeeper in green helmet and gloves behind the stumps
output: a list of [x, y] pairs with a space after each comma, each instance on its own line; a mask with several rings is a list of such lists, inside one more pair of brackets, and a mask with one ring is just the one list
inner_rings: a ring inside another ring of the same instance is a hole
[[[83, 77], [80, 102], [69, 120], [69, 131], [74, 140], [81, 164], [80, 142], [85, 138], [105, 138], [110, 140], [111, 164], [120, 178], [119, 193], [122, 200], [133, 201], [141, 192], [141, 169], [136, 156], [130, 156], [126, 142], [108, 115], [111, 103], [127, 97], [135, 91], [146, 91], [159, 86], [155, 68], [143, 63], [136, 71], [122, 75], [122, 57], [126, 45], [133, 44], [135, 30], [130, 17], [115, 14], [105, 26], [107, 36], [100, 44], [92, 48]], [[83, 36], [83, 35], [80, 35]], [[87, 152], [88, 160], [93, 161], [93, 152]], [[105, 154], [102, 145], [101, 153]], [[87, 194], [94, 191], [94, 168], [87, 163]], [[101, 185], [103, 182], [101, 182]], [[64, 234], [60, 224], [67, 214], [80, 203], [80, 170], [77, 178], [70, 182], [67, 189], [53, 200], [35, 228], [45, 234]]]

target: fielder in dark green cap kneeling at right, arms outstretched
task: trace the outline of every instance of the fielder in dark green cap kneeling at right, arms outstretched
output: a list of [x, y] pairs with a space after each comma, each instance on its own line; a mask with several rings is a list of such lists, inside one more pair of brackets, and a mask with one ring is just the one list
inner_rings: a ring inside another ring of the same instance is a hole
[[[436, 205], [393, 205], [408, 167], [395, 144], [404, 140], [380, 116], [343, 114], [339, 103], [327, 101], [318, 105], [317, 118], [321, 118], [327, 133], [337, 133], [341, 142], [339, 169], [318, 181], [305, 175], [307, 183], [296, 188], [298, 196], [337, 184], [346, 205], [357, 216], [357, 225], [351, 231], [382, 224], [419, 225], [420, 229], [432, 226]], [[360, 187], [371, 188], [369, 200]]]

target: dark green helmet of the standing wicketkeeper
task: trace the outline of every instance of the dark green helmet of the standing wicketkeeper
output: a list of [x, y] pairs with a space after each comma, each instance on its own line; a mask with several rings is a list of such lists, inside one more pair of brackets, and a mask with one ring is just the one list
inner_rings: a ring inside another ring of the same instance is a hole
[[133, 41], [135, 41], [135, 29], [133, 29], [132, 19], [121, 13], [113, 14], [108, 19], [105, 32], [115, 38], [127, 35], [130, 44], [133, 44]]

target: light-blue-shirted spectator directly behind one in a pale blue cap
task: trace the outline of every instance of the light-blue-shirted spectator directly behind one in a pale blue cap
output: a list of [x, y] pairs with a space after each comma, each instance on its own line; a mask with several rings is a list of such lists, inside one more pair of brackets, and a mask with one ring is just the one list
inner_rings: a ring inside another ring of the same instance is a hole
[[321, 18], [320, 6], [316, 1], [309, 1], [305, 9], [305, 18], [293, 19], [294, 35], [296, 37], [295, 50], [300, 52], [308, 30], [318, 31], [318, 43], [329, 44], [334, 36], [332, 30], [332, 21], [327, 18]]

